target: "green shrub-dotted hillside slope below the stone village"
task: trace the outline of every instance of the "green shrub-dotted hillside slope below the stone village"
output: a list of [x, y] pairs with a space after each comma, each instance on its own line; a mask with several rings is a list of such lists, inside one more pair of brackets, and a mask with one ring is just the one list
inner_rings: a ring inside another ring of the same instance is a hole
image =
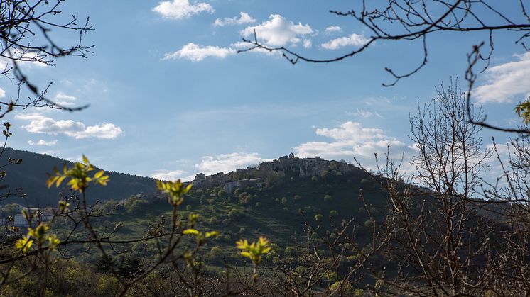
[[[234, 242], [240, 238], [264, 236], [277, 246], [278, 255], [291, 257], [293, 251], [305, 245], [308, 225], [315, 228], [320, 225], [325, 234], [325, 230], [332, 230], [331, 220], [340, 226], [342, 220], [355, 218], [356, 241], [360, 245], [368, 244], [372, 228], [366, 224], [369, 218], [364, 203], [359, 200], [360, 190], [373, 205], [372, 213], [382, 218], [386, 193], [368, 172], [358, 168], [345, 174], [331, 171], [324, 176], [284, 177], [274, 186], [236, 189], [232, 193], [221, 186], [195, 188], [185, 198], [180, 215], [187, 218], [189, 213], [198, 213], [201, 230], [221, 233], [214, 243], [217, 247], [210, 251], [212, 245], [206, 246], [204, 253], [205, 259], [213, 264], [210, 268], [222, 269], [225, 264], [244, 262], [234, 249]], [[87, 191], [87, 195], [92, 194]], [[116, 205], [118, 207], [114, 208]], [[158, 218], [171, 218], [171, 206], [161, 194], [131, 196], [121, 202], [107, 201], [102, 208], [114, 211], [112, 215], [99, 218], [95, 225], [103, 233], [112, 232], [119, 225], [114, 233], [117, 238], [142, 237]], [[72, 250], [82, 254], [83, 262], [97, 263], [96, 255], [82, 251], [83, 247]], [[147, 260], [156, 255], [156, 246], [135, 245], [130, 251], [130, 259]]]

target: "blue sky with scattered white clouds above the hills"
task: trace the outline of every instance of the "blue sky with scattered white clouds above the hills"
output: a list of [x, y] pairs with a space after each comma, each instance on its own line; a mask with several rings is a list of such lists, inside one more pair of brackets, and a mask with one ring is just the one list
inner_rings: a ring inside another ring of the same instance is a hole
[[[229, 172], [293, 152], [297, 157], [354, 157], [374, 167], [374, 153], [391, 145], [393, 157], [414, 155], [409, 115], [436, 96], [436, 87], [464, 77], [466, 53], [485, 33], [435, 34], [428, 65], [396, 86], [384, 67], [407, 72], [421, 62], [421, 43], [377, 42], [355, 57], [330, 64], [291, 65], [278, 52], [237, 53], [254, 30], [262, 43], [308, 57], [355, 50], [369, 32], [328, 11], [352, 1], [82, 1], [62, 4], [61, 19], [90, 16], [94, 44], [87, 59], [55, 66], [25, 63], [48, 96], [75, 113], [16, 109], [8, 147], [78, 160], [87, 155], [107, 170], [158, 179], [193, 179]], [[492, 20], [494, 21], [494, 20]], [[78, 35], [54, 30], [59, 43]], [[473, 102], [488, 121], [514, 125], [514, 105], [530, 94], [530, 52], [513, 33], [495, 35], [491, 66], [480, 75]], [[460, 79], [460, 81], [463, 81]], [[465, 82], [463, 82], [465, 88]], [[0, 97], [16, 89], [0, 80]], [[25, 94], [27, 96], [27, 94]], [[492, 136], [483, 131], [485, 145]]]

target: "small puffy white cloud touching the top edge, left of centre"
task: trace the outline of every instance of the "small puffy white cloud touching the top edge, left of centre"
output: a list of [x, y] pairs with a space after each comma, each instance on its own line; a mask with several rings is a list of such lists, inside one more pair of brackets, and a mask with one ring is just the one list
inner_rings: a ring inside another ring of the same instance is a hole
[[189, 0], [173, 0], [158, 3], [153, 11], [160, 13], [164, 18], [180, 20], [201, 12], [214, 13], [215, 9], [210, 4], [203, 2], [190, 4]]

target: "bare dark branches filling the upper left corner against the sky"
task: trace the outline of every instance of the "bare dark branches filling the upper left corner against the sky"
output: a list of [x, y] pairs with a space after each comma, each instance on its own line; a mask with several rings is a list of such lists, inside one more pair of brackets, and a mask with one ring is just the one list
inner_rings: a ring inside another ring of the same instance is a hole
[[[18, 86], [18, 96], [11, 101], [0, 101], [5, 106], [0, 118], [13, 108], [42, 107], [59, 108], [66, 111], [78, 111], [87, 106], [68, 107], [48, 99], [46, 92], [50, 87], [39, 88], [23, 72], [23, 63], [42, 63], [55, 65], [59, 57], [87, 57], [94, 45], [83, 45], [82, 37], [93, 30], [89, 19], [80, 21], [75, 15], [67, 21], [59, 21], [60, 6], [63, 0], [6, 0], [0, 1], [0, 57], [5, 66], [0, 69], [6, 79]], [[80, 22], [78, 24], [78, 22]], [[76, 33], [72, 45], [61, 45], [53, 39], [52, 30], [67, 30]], [[20, 90], [25, 86], [33, 96], [21, 101]]]

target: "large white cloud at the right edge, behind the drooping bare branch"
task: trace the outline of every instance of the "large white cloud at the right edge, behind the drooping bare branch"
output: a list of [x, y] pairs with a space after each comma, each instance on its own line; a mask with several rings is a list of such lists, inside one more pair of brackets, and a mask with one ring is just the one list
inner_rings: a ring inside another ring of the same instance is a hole
[[[486, 84], [477, 86], [473, 95], [480, 103], [507, 103], [515, 96], [530, 95], [530, 52], [517, 56], [518, 61], [490, 67]], [[519, 100], [524, 98], [519, 98]]]

